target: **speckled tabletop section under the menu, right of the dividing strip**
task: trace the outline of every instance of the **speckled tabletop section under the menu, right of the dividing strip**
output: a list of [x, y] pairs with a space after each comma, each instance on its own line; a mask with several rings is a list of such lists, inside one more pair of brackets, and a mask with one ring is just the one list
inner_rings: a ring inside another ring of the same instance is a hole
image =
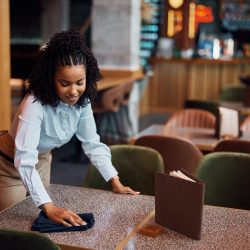
[[[154, 218], [148, 223], [154, 222]], [[135, 235], [126, 250], [167, 249], [250, 249], [250, 211], [214, 206], [204, 206], [201, 240], [193, 240], [166, 229], [156, 238]]]

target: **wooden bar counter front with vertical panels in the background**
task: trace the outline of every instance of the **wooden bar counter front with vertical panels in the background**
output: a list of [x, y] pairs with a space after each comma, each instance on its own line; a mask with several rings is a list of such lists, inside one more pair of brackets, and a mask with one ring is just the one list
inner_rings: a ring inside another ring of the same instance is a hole
[[163, 59], [152, 61], [154, 75], [141, 100], [141, 114], [181, 109], [187, 99], [216, 100], [222, 88], [250, 73], [249, 59]]

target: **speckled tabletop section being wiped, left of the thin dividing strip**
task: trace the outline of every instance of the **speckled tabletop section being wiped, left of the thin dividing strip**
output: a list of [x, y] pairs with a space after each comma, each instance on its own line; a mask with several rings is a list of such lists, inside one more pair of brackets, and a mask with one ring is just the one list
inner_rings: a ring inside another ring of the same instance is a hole
[[[77, 213], [92, 212], [93, 228], [83, 232], [50, 233], [56, 243], [91, 249], [115, 249], [116, 246], [154, 209], [154, 197], [119, 195], [72, 186], [51, 185], [54, 203]], [[37, 209], [31, 198], [0, 213], [0, 227], [30, 230]]]

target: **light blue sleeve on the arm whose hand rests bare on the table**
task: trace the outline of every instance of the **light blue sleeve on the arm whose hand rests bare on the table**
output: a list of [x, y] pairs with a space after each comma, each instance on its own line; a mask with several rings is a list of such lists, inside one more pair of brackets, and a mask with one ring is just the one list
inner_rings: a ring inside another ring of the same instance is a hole
[[83, 108], [76, 136], [82, 142], [84, 153], [106, 181], [118, 174], [112, 165], [109, 147], [100, 142], [90, 104]]

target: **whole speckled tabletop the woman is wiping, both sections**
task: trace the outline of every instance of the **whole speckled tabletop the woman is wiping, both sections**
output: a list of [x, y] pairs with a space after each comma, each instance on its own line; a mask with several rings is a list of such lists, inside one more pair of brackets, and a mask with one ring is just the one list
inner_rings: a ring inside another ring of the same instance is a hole
[[[126, 250], [250, 250], [249, 210], [204, 206], [201, 240], [193, 240], [166, 228], [162, 235], [152, 238], [137, 232], [142, 222], [154, 221], [151, 216], [154, 209], [152, 196], [119, 195], [62, 185], [51, 185], [48, 191], [58, 206], [78, 213], [93, 212], [96, 221], [88, 231], [47, 234], [57, 244], [102, 250], [123, 246]], [[28, 231], [39, 211], [27, 198], [0, 213], [0, 227]]]

